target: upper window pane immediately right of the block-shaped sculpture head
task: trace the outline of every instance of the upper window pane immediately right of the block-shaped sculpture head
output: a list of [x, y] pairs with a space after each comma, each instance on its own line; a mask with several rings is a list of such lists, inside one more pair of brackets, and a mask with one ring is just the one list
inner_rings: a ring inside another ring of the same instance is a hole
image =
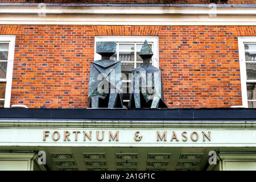
[[119, 61], [134, 61], [133, 44], [119, 44]]

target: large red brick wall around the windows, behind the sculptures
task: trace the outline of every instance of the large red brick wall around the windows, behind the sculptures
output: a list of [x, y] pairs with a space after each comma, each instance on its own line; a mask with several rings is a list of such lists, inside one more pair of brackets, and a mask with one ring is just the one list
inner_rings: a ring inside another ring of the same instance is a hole
[[87, 107], [96, 35], [157, 35], [169, 107], [242, 105], [237, 36], [256, 26], [0, 26], [16, 35], [11, 105]]

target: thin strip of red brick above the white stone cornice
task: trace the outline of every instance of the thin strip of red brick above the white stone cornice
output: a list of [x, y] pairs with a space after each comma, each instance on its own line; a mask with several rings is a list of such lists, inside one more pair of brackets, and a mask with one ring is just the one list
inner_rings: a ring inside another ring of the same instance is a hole
[[[35, 3], [42, 0], [31, 0], [30, 2]], [[0, 0], [5, 3], [24, 3], [26, 0]], [[146, 3], [146, 4], [209, 4], [210, 0], [44, 0], [45, 3]], [[222, 3], [220, 0], [218, 3]], [[229, 0], [229, 4], [255, 4], [256, 0]]]

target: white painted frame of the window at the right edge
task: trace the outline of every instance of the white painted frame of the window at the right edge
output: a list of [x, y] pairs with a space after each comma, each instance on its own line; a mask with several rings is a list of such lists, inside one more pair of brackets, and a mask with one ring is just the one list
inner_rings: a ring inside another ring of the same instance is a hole
[[256, 36], [238, 36], [238, 51], [240, 61], [240, 76], [241, 76], [241, 90], [242, 90], [242, 106], [248, 108], [247, 100], [247, 82], [256, 82], [256, 80], [247, 80], [246, 63], [245, 63], [245, 44], [255, 43]]

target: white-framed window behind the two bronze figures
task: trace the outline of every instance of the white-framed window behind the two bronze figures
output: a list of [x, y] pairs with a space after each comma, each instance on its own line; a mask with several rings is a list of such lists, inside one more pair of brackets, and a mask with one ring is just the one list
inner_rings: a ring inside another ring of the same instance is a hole
[[[96, 36], [96, 42], [117, 43], [117, 52], [110, 57], [111, 60], [121, 61], [122, 85], [123, 85], [123, 105], [129, 105], [129, 90], [131, 84], [131, 71], [143, 63], [139, 56], [144, 41], [147, 40], [154, 55], [150, 63], [159, 68], [158, 62], [158, 36]], [[96, 51], [96, 49], [94, 49]], [[94, 60], [100, 60], [101, 55], [94, 52]]]

